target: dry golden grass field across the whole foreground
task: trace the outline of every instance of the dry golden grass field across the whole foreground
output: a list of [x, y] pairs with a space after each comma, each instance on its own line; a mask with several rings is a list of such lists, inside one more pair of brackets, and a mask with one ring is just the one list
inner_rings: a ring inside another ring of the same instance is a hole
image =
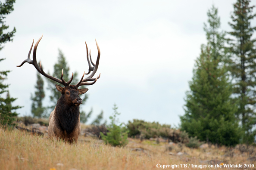
[[[177, 153], [181, 152], [181, 155]], [[129, 139], [124, 148], [104, 145], [101, 140], [79, 136], [78, 145], [51, 141], [47, 136], [33, 136], [19, 130], [0, 129], [0, 170], [157, 170], [160, 165], [173, 165], [178, 170], [219, 169], [215, 164], [254, 164], [253, 146], [226, 148], [209, 146], [191, 149], [183, 144], [169, 145], [139, 139]], [[181, 167], [187, 164], [187, 168]], [[214, 167], [208, 167], [213, 164]], [[223, 165], [222, 165], [223, 166]], [[251, 165], [252, 166], [252, 165]], [[165, 168], [164, 168], [165, 169]], [[166, 169], [172, 169], [167, 167]], [[236, 168], [226, 168], [236, 169]]]

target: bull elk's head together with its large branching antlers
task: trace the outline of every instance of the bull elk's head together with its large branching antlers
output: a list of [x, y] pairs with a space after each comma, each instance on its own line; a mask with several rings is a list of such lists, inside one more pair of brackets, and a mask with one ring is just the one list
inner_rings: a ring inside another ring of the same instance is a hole
[[[88, 70], [88, 73], [85, 73], [84, 71], [84, 74], [81, 78], [81, 80], [75, 84], [75, 85], [69, 85], [72, 80], [73, 80], [73, 77], [74, 77], [74, 74], [72, 73], [72, 77], [70, 78], [69, 81], [65, 81], [63, 79], [63, 69], [62, 69], [62, 74], [61, 74], [61, 77], [60, 77], [60, 80], [58, 78], [55, 78], [53, 76], [50, 76], [49, 74], [46, 74], [41, 66], [41, 62], [37, 63], [37, 58], [36, 58], [36, 53], [37, 53], [37, 46], [40, 42], [40, 40], [42, 39], [43, 35], [39, 38], [39, 40], [37, 41], [37, 43], [34, 45], [34, 51], [33, 51], [33, 60], [30, 59], [30, 54], [31, 54], [31, 50], [32, 50], [32, 47], [33, 47], [33, 44], [34, 44], [34, 39], [33, 39], [33, 42], [32, 42], [32, 45], [31, 45], [31, 48], [29, 50], [29, 53], [28, 53], [28, 59], [25, 59], [21, 65], [17, 65], [17, 67], [21, 67], [25, 62], [31, 64], [31, 65], [34, 65], [34, 67], [37, 69], [37, 71], [42, 74], [44, 77], [47, 77], [53, 81], [56, 81], [57, 83], [60, 83], [62, 84], [64, 87], [61, 87], [59, 85], [55, 85], [56, 86], [56, 89], [62, 93], [62, 96], [64, 96], [67, 100], [67, 103], [69, 104], [73, 104], [73, 105], [80, 105], [82, 103], [82, 99], [79, 97], [78, 94], [84, 94], [88, 91], [88, 89], [78, 89], [79, 86], [83, 86], [83, 85], [92, 85], [94, 84], [97, 79], [100, 78], [100, 74], [99, 74], [99, 77], [97, 76], [96, 78], [93, 78], [94, 74], [96, 73], [97, 69], [98, 69], [98, 66], [99, 66], [99, 62], [100, 62], [100, 48], [98, 46], [98, 43], [96, 41], [96, 45], [97, 45], [97, 49], [98, 49], [98, 56], [97, 56], [97, 60], [96, 60], [96, 64], [94, 64], [92, 62], [92, 59], [91, 59], [91, 50], [90, 50], [90, 60], [89, 60], [89, 55], [88, 55], [88, 48], [87, 48], [87, 44], [85, 42], [85, 45], [86, 45], [86, 52], [87, 52], [87, 62], [88, 62], [88, 65], [89, 65], [89, 70]], [[92, 71], [92, 73], [91, 73]], [[91, 73], [91, 74], [90, 74]], [[84, 79], [84, 75], [88, 75], [90, 74], [87, 78]], [[88, 82], [89, 81], [89, 82]], [[90, 82], [91, 81], [91, 82]]]

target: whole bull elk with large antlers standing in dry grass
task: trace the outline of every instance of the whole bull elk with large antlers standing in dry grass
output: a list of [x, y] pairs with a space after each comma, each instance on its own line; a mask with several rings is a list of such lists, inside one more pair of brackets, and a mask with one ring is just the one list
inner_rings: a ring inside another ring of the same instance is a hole
[[86, 51], [87, 51], [87, 62], [89, 65], [89, 71], [86, 74], [90, 74], [90, 73], [91, 74], [84, 79], [84, 75], [85, 75], [85, 71], [84, 71], [84, 74], [81, 80], [77, 84], [69, 85], [73, 80], [73, 76], [74, 76], [73, 73], [72, 73], [71, 79], [66, 82], [63, 79], [63, 69], [62, 69], [62, 74], [59, 80], [58, 78], [55, 78], [46, 74], [41, 66], [41, 62], [39, 63], [40, 66], [38, 65], [36, 52], [37, 52], [37, 46], [40, 40], [42, 39], [42, 37], [43, 35], [39, 38], [39, 40], [34, 46], [33, 60], [30, 59], [30, 53], [34, 44], [34, 39], [28, 53], [28, 59], [25, 59], [22, 62], [22, 64], [18, 65], [17, 67], [21, 67], [25, 62], [28, 62], [29, 64], [34, 65], [34, 67], [37, 69], [37, 71], [40, 74], [64, 86], [64, 87], [61, 87], [57, 84], [55, 85], [56, 89], [62, 94], [62, 96], [59, 98], [55, 109], [50, 114], [48, 134], [50, 138], [56, 137], [57, 139], [63, 139], [64, 141], [69, 143], [72, 143], [74, 141], [75, 143], [77, 143], [78, 136], [81, 131], [79, 105], [81, 105], [82, 99], [79, 97], [79, 94], [84, 94], [88, 91], [88, 89], [78, 89], [78, 87], [82, 85], [87, 85], [87, 86], [92, 85], [97, 81], [97, 79], [100, 78], [100, 74], [99, 74], [99, 77], [97, 76], [96, 78], [93, 78], [99, 66], [100, 48], [97, 44], [97, 41], [95, 40], [97, 49], [98, 49], [98, 56], [97, 56], [96, 64], [94, 64], [91, 59], [91, 50], [90, 50], [90, 60], [89, 60], [88, 48], [85, 42]]

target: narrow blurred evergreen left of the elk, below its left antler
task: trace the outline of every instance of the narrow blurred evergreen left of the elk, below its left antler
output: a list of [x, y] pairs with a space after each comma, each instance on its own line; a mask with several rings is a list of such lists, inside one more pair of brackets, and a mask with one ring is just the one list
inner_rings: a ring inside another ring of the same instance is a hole
[[46, 108], [43, 107], [43, 99], [45, 97], [44, 94], [44, 80], [42, 79], [41, 75], [37, 73], [37, 83], [34, 86], [36, 91], [34, 96], [31, 94], [32, 106], [31, 106], [31, 113], [33, 117], [44, 117], [44, 113]]

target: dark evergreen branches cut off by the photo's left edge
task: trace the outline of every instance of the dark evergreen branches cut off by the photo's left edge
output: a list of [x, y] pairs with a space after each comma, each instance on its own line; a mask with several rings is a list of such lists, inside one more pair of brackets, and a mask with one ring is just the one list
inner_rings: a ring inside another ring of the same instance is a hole
[[[5, 25], [4, 19], [6, 18], [5, 15], [8, 15], [13, 11], [13, 3], [15, 3], [15, 0], [6, 0], [5, 3], [0, 2], [0, 50], [3, 49], [3, 43], [12, 41], [12, 37], [16, 32], [16, 29], [13, 28], [13, 31], [3, 33], [9, 28], [8, 25]], [[3, 60], [4, 59], [0, 59], [0, 62]], [[7, 74], [9, 72], [10, 71], [0, 71], [0, 124], [2, 125], [12, 124], [14, 117], [18, 115], [14, 110], [21, 108], [20, 106], [12, 106], [12, 102], [16, 99], [10, 97], [9, 91], [7, 90], [9, 85], [3, 84], [3, 81], [7, 79]], [[6, 97], [4, 97], [5, 94]]]

